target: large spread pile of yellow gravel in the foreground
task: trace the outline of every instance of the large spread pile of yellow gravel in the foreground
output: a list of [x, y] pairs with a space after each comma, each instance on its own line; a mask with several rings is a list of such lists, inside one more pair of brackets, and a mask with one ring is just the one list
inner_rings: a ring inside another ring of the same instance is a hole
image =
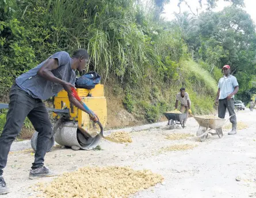
[[127, 167], [85, 167], [64, 173], [49, 184], [34, 188], [41, 198], [125, 198], [161, 183], [163, 177], [150, 170]]

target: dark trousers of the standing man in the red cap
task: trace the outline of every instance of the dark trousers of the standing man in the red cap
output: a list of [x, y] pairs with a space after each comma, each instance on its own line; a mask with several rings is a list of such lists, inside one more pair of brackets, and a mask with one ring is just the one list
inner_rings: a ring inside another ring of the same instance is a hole
[[219, 100], [219, 106], [218, 106], [218, 115], [219, 118], [225, 118], [226, 110], [228, 109], [228, 112], [231, 115], [233, 115], [230, 118], [231, 123], [236, 123], [236, 115], [235, 115], [235, 104], [234, 99], [221, 99]]

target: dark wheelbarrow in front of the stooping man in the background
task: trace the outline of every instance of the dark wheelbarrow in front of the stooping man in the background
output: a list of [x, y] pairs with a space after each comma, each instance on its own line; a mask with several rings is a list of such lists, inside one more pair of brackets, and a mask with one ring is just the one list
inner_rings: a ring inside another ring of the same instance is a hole
[[163, 114], [168, 119], [167, 125], [169, 126], [169, 129], [174, 129], [175, 125], [181, 125], [184, 129], [187, 114], [175, 114], [170, 112], [164, 112]]

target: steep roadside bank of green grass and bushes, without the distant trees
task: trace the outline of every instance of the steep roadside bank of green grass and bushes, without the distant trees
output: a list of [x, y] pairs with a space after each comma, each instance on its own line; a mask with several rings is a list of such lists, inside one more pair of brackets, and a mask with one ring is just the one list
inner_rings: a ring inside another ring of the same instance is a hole
[[[5, 3], [3, 10], [15, 12], [0, 10], [0, 100], [18, 75], [52, 53], [86, 48], [90, 68], [100, 73], [102, 83], [108, 77], [116, 81], [114, 95], [125, 93], [123, 104], [138, 119], [159, 121], [163, 112], [174, 109], [180, 87], [189, 92], [194, 112], [212, 111], [220, 70], [190, 59], [181, 29], [156, 21], [155, 7], [146, 10], [138, 2]], [[33, 130], [28, 119], [24, 127]]]

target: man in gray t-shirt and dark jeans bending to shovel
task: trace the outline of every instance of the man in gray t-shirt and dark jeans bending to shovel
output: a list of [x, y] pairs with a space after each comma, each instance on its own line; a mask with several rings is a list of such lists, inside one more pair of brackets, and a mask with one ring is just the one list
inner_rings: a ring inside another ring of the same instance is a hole
[[[67, 52], [57, 52], [37, 67], [17, 77], [10, 90], [9, 111], [0, 137], [0, 195], [9, 192], [2, 177], [3, 168], [6, 166], [10, 146], [20, 133], [26, 117], [39, 133], [35, 161], [32, 164], [29, 178], [51, 174], [44, 166], [44, 156], [51, 139], [52, 125], [42, 100], [49, 99], [64, 89], [68, 92], [70, 102], [87, 112], [82, 104], [72, 96], [71, 87], [75, 87], [74, 70], [82, 72], [88, 60], [89, 55], [85, 49], [78, 49], [72, 57]], [[97, 121], [97, 115], [93, 114], [91, 119]]]

